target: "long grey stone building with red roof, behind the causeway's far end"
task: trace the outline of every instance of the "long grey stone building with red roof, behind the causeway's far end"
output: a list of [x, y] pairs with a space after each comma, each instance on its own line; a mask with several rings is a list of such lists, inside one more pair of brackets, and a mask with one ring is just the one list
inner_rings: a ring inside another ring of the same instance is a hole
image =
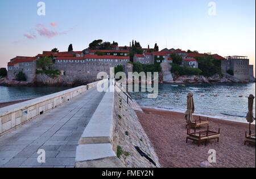
[[110, 74], [110, 67], [123, 66], [126, 71], [130, 57], [125, 56], [97, 56], [87, 54], [84, 57], [57, 57], [54, 69], [61, 71], [61, 78], [66, 82], [76, 80], [95, 81], [101, 71]]

